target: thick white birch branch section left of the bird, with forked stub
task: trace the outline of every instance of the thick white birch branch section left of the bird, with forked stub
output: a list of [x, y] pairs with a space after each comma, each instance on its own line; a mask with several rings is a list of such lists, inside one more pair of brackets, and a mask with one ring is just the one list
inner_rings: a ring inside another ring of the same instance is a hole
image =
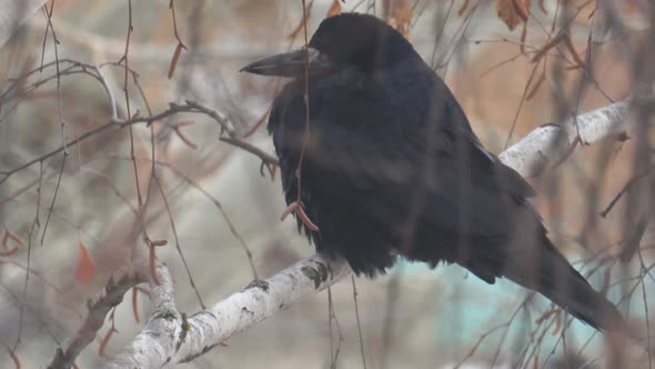
[[[188, 320], [174, 309], [170, 276], [158, 267], [160, 299], [144, 329], [104, 368], [160, 368], [190, 361], [223, 340], [290, 307], [299, 298], [316, 293], [351, 273], [343, 260], [315, 255], [256, 285], [246, 287]], [[168, 301], [162, 305], [161, 301]]]

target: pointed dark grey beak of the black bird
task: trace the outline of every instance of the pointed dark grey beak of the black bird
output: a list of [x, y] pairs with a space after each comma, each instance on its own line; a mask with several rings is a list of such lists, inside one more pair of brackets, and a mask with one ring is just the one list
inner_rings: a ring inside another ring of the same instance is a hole
[[300, 77], [305, 72], [308, 57], [310, 72], [312, 73], [326, 71], [332, 67], [328, 58], [321, 54], [319, 50], [309, 48], [305, 51], [304, 48], [301, 48], [295, 51], [260, 59], [243, 67], [241, 71], [262, 76]]

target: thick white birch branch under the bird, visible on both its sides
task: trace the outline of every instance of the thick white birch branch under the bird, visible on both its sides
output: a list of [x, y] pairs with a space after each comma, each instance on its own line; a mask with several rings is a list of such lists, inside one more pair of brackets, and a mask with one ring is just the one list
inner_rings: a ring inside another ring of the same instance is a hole
[[[500, 159], [523, 176], [536, 176], [582, 144], [625, 138], [629, 104], [625, 100], [560, 124], [542, 126], [501, 153]], [[162, 285], [152, 286], [154, 313], [141, 333], [104, 368], [161, 368], [190, 361], [289, 308], [301, 297], [314, 295], [352, 273], [344, 260], [314, 255], [187, 319], [174, 307], [167, 268], [160, 265], [158, 271]]]

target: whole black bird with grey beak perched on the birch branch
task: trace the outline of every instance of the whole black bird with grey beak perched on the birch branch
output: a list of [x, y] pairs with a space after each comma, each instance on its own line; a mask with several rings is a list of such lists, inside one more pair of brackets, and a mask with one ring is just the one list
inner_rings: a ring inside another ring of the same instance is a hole
[[[286, 202], [319, 252], [374, 276], [397, 256], [535, 290], [597, 329], [624, 321], [546, 237], [531, 186], [486, 151], [444, 81], [382, 20], [326, 18], [304, 48], [248, 71], [292, 80], [269, 118]], [[313, 229], [312, 229], [313, 228]]]

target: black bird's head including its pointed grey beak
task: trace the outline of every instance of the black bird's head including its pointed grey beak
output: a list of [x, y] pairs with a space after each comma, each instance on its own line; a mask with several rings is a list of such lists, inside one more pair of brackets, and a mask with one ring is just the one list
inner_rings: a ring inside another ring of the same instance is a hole
[[355, 67], [377, 71], [405, 58], [420, 58], [412, 44], [384, 21], [369, 14], [341, 13], [324, 19], [304, 47], [258, 60], [241, 71], [263, 76], [302, 77], [309, 57], [311, 74]]

